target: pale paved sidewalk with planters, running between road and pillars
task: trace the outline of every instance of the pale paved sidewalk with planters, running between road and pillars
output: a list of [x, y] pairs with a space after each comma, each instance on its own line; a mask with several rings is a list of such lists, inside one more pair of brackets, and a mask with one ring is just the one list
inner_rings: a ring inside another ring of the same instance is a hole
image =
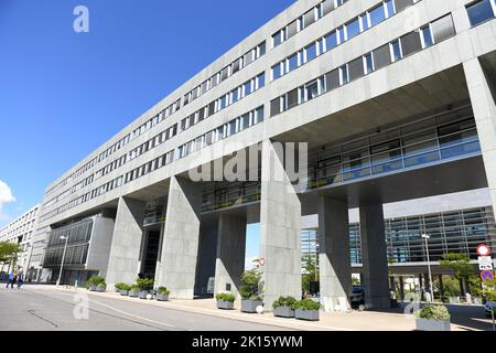
[[[74, 292], [73, 288], [56, 288], [55, 286], [36, 287], [36, 289], [52, 289]], [[168, 309], [182, 310], [195, 313], [203, 313], [213, 317], [220, 317], [247, 322], [257, 322], [303, 331], [412, 331], [416, 329], [413, 315], [405, 315], [398, 312], [378, 311], [352, 311], [344, 313], [328, 313], [321, 311], [321, 320], [317, 322], [306, 322], [295, 319], [276, 318], [272, 313], [250, 314], [239, 311], [240, 302], [235, 302], [235, 310], [216, 309], [215, 299], [196, 299], [157, 301], [143, 300], [120, 296], [117, 292], [90, 292], [78, 288], [78, 292], [87, 292], [94, 300], [100, 298], [111, 298], [122, 301], [139, 302], [143, 306], [157, 306]], [[452, 331], [466, 331], [467, 328], [452, 324]]]

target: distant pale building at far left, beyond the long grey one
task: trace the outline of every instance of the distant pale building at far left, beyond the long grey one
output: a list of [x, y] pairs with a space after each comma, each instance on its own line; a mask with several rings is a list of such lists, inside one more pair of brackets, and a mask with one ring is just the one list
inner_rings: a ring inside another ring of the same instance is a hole
[[[36, 228], [39, 211], [40, 204], [0, 228], [0, 242], [11, 242], [21, 245], [22, 252], [19, 254], [15, 265], [22, 267], [26, 277], [32, 279], [37, 278], [37, 272], [41, 270], [40, 263], [32, 257], [33, 232]], [[3, 265], [1, 271], [7, 271], [8, 267], [8, 265]], [[29, 270], [30, 268], [32, 270]]]

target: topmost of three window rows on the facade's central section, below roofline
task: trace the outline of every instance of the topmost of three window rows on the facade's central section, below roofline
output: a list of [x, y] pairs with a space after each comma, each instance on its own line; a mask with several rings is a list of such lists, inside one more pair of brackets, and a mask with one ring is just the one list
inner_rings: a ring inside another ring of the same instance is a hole
[[222, 71], [216, 73], [214, 76], [202, 83], [200, 86], [195, 87], [193, 90], [187, 93], [184, 96], [183, 105], [186, 105], [195, 100], [196, 98], [198, 98], [209, 89], [214, 88], [223, 81], [229, 78], [230, 76], [233, 76], [244, 67], [248, 66], [249, 64], [251, 64], [252, 62], [255, 62], [265, 54], [266, 54], [266, 42], [263, 41], [256, 47], [251, 49], [248, 53], [246, 53], [241, 57], [238, 57], [231, 64], [227, 65]]

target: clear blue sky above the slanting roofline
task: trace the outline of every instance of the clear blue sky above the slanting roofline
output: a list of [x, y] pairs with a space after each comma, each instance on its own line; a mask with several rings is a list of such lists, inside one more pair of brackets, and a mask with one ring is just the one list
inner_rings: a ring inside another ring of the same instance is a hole
[[[0, 226], [293, 2], [0, 0]], [[73, 30], [78, 4], [89, 33]]]

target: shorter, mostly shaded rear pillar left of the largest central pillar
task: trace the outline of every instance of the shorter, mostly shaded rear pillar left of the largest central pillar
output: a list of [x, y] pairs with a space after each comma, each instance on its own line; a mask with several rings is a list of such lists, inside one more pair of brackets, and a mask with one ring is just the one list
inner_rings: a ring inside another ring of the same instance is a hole
[[215, 292], [231, 291], [239, 298], [240, 278], [245, 270], [245, 254], [246, 220], [220, 215], [217, 232]]

